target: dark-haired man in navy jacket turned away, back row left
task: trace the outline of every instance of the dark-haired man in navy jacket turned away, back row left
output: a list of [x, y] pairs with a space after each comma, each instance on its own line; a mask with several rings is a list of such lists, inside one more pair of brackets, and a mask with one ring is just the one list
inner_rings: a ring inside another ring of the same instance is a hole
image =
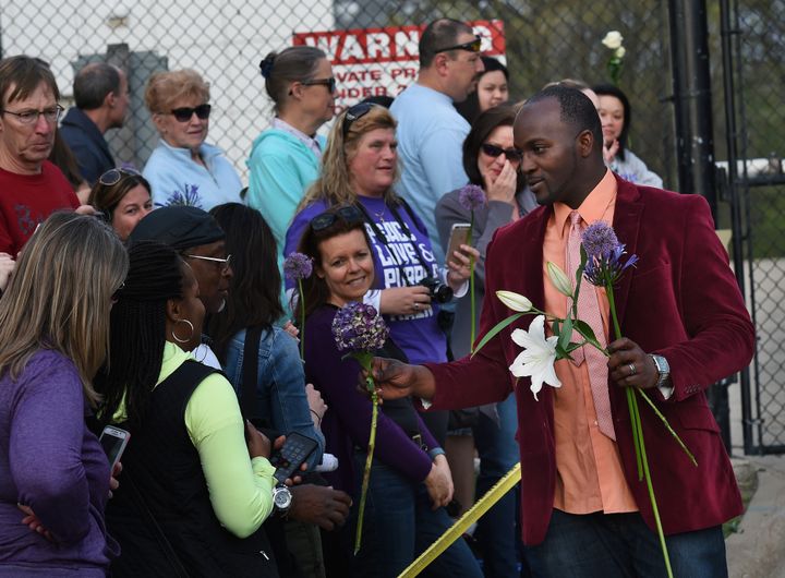
[[76, 106], [62, 120], [60, 134], [76, 157], [82, 177], [93, 185], [116, 166], [104, 134], [125, 121], [125, 73], [106, 62], [87, 64], [74, 79], [74, 100]]

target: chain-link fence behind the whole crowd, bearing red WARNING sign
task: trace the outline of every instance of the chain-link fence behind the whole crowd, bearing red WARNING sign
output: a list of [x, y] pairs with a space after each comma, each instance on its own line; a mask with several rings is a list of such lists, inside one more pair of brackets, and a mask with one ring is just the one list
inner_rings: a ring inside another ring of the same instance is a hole
[[[754, 365], [752, 420], [769, 433], [758, 443], [785, 447], [783, 392], [783, 277], [785, 276], [785, 181], [778, 158], [785, 153], [781, 106], [785, 94], [785, 0], [738, 0], [738, 22], [722, 31], [720, 2], [708, 4], [713, 74], [717, 158], [725, 153], [724, 70], [720, 40], [736, 38], [736, 109], [739, 156], [758, 158], [749, 177], [768, 178], [768, 186], [746, 188], [749, 213], [737, 234], [749, 242], [750, 306], [759, 326], [760, 352]], [[3, 0], [0, 47], [3, 56], [27, 53], [49, 61], [64, 104], [74, 72], [84, 63], [107, 59], [125, 70], [131, 111], [123, 129], [108, 140], [119, 161], [142, 168], [157, 143], [143, 103], [144, 86], [157, 70], [192, 68], [212, 85], [213, 116], [208, 142], [226, 150], [243, 180], [253, 140], [267, 128], [271, 107], [264, 93], [258, 62], [270, 50], [315, 44], [334, 62], [339, 106], [369, 94], [395, 96], [416, 77], [420, 26], [439, 16], [475, 24], [484, 49], [505, 59], [510, 96], [521, 99], [545, 83], [564, 77], [589, 84], [607, 82], [611, 51], [601, 44], [612, 29], [625, 38], [619, 81], [632, 107], [629, 146], [666, 188], [677, 189], [672, 104], [668, 2], [577, 0], [314, 0], [278, 3], [267, 0]], [[327, 128], [323, 128], [324, 132]], [[742, 176], [744, 177], [744, 176]], [[780, 179], [780, 180], [777, 180]], [[763, 181], [761, 181], [763, 182]], [[726, 198], [727, 201], [727, 198]], [[721, 207], [720, 225], [729, 227]], [[768, 437], [766, 437], [768, 436]]]

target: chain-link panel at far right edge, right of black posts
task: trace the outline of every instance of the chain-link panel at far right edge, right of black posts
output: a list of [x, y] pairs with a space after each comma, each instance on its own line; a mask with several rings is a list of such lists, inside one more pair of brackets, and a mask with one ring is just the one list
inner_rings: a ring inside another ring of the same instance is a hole
[[785, 2], [741, 0], [735, 36], [736, 119], [747, 299], [758, 329], [745, 447], [785, 453]]

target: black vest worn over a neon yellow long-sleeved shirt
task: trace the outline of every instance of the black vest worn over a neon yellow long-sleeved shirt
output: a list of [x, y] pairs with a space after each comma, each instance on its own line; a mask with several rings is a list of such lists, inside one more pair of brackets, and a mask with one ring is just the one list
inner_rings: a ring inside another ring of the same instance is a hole
[[240, 539], [221, 527], [185, 429], [189, 399], [215, 371], [184, 362], [155, 388], [144, 428], [131, 432], [120, 487], [106, 510], [109, 532], [122, 547], [112, 576], [278, 576], [262, 528]]

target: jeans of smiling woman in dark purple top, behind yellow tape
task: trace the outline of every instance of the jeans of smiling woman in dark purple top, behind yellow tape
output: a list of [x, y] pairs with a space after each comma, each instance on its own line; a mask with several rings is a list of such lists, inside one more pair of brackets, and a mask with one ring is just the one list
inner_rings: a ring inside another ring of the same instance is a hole
[[[365, 466], [364, 451], [354, 454], [354, 466], [358, 491], [352, 496], [352, 545]], [[363, 578], [397, 577], [451, 525], [445, 508], [431, 509], [424, 483], [411, 482], [374, 459], [365, 503], [362, 547], [354, 558], [352, 575]], [[421, 576], [481, 578], [482, 570], [467, 543], [458, 539]]]

